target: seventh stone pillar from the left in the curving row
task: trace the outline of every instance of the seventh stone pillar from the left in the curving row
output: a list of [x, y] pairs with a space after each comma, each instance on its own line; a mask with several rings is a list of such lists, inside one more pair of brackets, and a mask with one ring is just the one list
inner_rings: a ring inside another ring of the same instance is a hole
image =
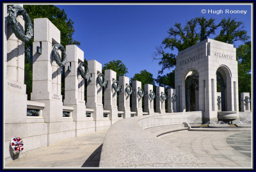
[[142, 97], [138, 94], [141, 88], [140, 81], [132, 81], [132, 111], [136, 112], [137, 116], [142, 116]]

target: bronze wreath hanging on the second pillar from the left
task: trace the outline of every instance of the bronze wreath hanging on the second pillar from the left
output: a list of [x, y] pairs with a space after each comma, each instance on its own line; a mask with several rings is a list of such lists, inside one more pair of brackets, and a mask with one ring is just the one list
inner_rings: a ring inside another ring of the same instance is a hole
[[[61, 57], [60, 54], [58, 53], [58, 50], [60, 49], [60, 51], [63, 54], [63, 61], [61, 61]], [[52, 57], [54, 57], [56, 63], [60, 66], [63, 67], [66, 65], [67, 62], [67, 54], [66, 51], [63, 47], [63, 45], [61, 45], [60, 43], [56, 43], [55, 45], [53, 45], [53, 49], [52, 49]]]

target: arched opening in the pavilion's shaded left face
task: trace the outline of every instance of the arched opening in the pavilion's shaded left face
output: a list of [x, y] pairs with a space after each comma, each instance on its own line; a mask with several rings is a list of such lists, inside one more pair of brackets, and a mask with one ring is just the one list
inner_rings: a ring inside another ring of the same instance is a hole
[[198, 72], [195, 70], [188, 72], [185, 79], [186, 111], [198, 111], [199, 107], [199, 86]]

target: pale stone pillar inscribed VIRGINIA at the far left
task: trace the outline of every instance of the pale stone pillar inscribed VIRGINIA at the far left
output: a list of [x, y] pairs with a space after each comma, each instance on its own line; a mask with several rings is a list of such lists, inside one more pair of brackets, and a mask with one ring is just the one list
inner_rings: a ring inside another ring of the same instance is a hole
[[[25, 43], [15, 36], [11, 26], [8, 25], [7, 16], [7, 5], [4, 5], [4, 121], [24, 123], [27, 111], [26, 84], [24, 84]], [[20, 15], [17, 17], [17, 22], [20, 23], [20, 30], [24, 34], [24, 20]]]

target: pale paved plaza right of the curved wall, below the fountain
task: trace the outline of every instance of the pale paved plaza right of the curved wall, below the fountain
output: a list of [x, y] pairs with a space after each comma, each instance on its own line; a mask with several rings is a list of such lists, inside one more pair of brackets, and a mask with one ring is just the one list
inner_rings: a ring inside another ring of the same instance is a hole
[[251, 132], [180, 131], [160, 138], [186, 153], [193, 154], [208, 167], [251, 168]]

